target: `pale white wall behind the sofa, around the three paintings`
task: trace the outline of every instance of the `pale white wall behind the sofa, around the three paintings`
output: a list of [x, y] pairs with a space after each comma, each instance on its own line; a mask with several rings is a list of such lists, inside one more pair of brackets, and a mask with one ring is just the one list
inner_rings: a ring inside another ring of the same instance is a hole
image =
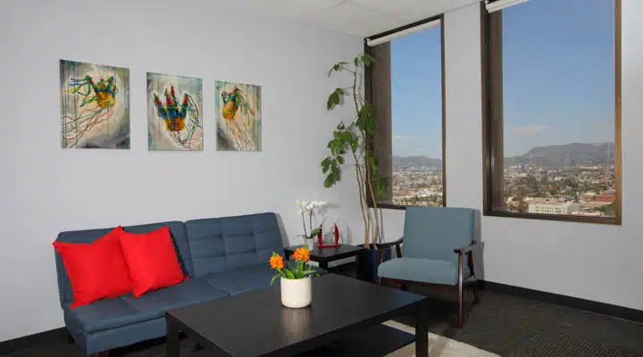
[[[0, 4], [0, 341], [63, 326], [51, 246], [62, 230], [268, 211], [294, 237], [297, 199], [359, 221], [355, 182], [323, 188], [319, 162], [342, 113], [326, 112], [338, 86], [326, 72], [362, 39], [214, 3]], [[130, 150], [60, 148], [60, 59], [129, 68]], [[147, 151], [146, 71], [204, 80], [202, 153]], [[262, 153], [215, 151], [216, 79], [262, 86]]]

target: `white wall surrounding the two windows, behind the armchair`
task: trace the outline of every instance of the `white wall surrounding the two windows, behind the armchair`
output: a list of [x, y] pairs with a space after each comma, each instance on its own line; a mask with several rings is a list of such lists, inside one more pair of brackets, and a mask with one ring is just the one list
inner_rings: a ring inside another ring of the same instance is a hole
[[[643, 310], [643, 3], [622, 1], [622, 226], [482, 217], [484, 278]], [[480, 7], [445, 15], [447, 204], [482, 209]], [[403, 212], [386, 212], [388, 239]]]

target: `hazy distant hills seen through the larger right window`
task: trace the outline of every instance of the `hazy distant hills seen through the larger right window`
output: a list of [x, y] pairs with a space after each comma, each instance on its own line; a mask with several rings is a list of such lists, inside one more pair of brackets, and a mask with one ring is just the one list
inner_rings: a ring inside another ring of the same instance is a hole
[[522, 163], [549, 167], [614, 164], [614, 143], [537, 146], [527, 154], [505, 157], [505, 166]]

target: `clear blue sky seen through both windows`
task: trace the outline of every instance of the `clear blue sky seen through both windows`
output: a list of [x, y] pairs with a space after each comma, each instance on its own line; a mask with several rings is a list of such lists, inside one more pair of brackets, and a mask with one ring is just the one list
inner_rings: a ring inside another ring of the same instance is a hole
[[[442, 156], [440, 37], [436, 27], [391, 42], [395, 155]], [[505, 9], [503, 47], [505, 156], [614, 141], [614, 0]]]

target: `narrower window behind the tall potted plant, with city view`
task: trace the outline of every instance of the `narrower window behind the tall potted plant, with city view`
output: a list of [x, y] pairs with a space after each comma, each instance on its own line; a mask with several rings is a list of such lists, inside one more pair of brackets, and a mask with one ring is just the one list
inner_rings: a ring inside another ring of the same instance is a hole
[[378, 207], [446, 203], [442, 22], [437, 17], [366, 38], [375, 58], [365, 73], [366, 97], [378, 115], [380, 176], [388, 178]]

